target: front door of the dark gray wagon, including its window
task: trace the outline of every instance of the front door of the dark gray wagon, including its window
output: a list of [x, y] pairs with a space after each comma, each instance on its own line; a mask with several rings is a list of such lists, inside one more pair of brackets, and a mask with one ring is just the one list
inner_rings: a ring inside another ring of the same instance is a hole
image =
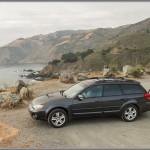
[[85, 89], [80, 95], [83, 100], [76, 97], [72, 104], [72, 115], [96, 115], [102, 113], [102, 85], [95, 85]]

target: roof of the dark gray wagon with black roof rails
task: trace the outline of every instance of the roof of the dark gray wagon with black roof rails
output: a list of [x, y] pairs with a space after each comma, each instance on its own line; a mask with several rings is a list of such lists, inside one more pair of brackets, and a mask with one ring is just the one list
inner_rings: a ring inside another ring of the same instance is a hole
[[129, 79], [107, 79], [107, 78], [96, 78], [96, 79], [88, 79], [80, 82], [83, 85], [99, 85], [99, 84], [140, 84], [140, 82], [136, 80]]

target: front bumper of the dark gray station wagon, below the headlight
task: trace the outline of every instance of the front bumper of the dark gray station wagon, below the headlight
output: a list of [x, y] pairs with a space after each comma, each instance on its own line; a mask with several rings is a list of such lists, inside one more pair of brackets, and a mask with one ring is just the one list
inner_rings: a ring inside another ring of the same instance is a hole
[[47, 120], [45, 110], [36, 110], [32, 107], [32, 104], [29, 105], [29, 113], [31, 117], [35, 120]]

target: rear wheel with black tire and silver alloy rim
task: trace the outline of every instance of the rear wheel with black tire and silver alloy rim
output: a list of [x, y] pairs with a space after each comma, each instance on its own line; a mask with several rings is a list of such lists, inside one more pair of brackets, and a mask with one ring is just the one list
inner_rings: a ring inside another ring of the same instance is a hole
[[138, 108], [135, 105], [126, 106], [121, 114], [121, 118], [126, 122], [131, 122], [136, 120], [138, 117]]

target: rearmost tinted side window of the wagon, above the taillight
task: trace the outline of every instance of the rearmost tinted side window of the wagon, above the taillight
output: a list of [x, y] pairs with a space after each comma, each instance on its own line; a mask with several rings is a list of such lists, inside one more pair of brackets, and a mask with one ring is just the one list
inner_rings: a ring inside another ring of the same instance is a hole
[[144, 93], [144, 89], [139, 86], [139, 85], [134, 85], [134, 84], [124, 84], [121, 85], [124, 94], [140, 94], [140, 93]]

